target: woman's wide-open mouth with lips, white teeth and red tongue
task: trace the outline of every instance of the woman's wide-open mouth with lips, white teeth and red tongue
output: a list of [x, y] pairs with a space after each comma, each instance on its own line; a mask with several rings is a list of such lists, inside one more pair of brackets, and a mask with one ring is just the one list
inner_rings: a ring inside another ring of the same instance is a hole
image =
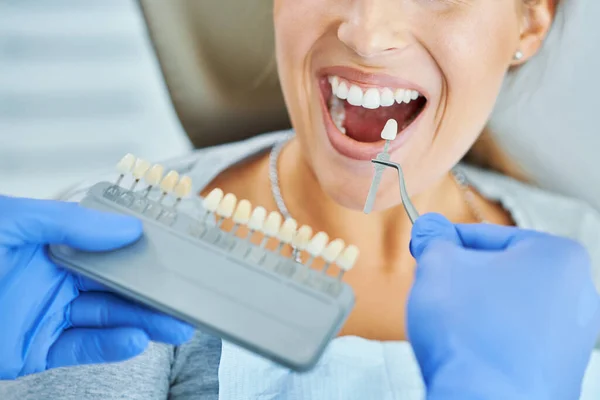
[[418, 90], [361, 85], [337, 75], [319, 77], [319, 87], [328, 114], [325, 116], [328, 120], [326, 125], [333, 146], [342, 154], [356, 159], [370, 159], [381, 150], [381, 131], [389, 119], [398, 123], [398, 139], [395, 142], [399, 145], [402, 133], [418, 119], [427, 105], [426, 97]]

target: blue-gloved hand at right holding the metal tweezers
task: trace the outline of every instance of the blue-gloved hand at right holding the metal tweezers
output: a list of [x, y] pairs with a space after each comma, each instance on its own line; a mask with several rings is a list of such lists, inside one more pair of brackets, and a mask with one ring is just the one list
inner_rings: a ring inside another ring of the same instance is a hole
[[413, 228], [407, 329], [429, 400], [578, 399], [600, 296], [575, 242], [437, 214]]

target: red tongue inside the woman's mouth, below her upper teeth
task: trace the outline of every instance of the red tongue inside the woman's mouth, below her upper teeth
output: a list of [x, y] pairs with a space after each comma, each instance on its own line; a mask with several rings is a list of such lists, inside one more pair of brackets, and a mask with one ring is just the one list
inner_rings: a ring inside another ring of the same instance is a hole
[[369, 110], [344, 102], [346, 136], [359, 142], [377, 142], [381, 140], [381, 131], [389, 119], [395, 119], [400, 130], [408, 126], [419, 110], [417, 103], [396, 103], [390, 107]]

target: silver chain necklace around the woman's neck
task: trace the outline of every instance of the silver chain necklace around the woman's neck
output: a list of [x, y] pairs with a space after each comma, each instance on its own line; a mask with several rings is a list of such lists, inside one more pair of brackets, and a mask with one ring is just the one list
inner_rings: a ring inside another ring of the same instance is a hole
[[[280, 141], [275, 144], [271, 149], [271, 153], [269, 154], [269, 180], [271, 181], [271, 193], [273, 194], [273, 199], [275, 200], [275, 204], [277, 205], [277, 209], [279, 213], [283, 216], [284, 219], [292, 218], [288, 208], [283, 201], [283, 196], [281, 195], [281, 188], [279, 186], [279, 172], [277, 168], [277, 161], [279, 160], [279, 154], [281, 150], [286, 145], [286, 143], [290, 140], [290, 138]], [[458, 168], [453, 168], [451, 171], [452, 178], [454, 182], [458, 185], [460, 190], [463, 193], [463, 198], [469, 211], [475, 217], [478, 222], [485, 223], [487, 222], [485, 218], [483, 218], [483, 213], [475, 204], [475, 194], [469, 185], [467, 177], [462, 171]], [[294, 255], [296, 259], [298, 259], [298, 252], [294, 249]]]

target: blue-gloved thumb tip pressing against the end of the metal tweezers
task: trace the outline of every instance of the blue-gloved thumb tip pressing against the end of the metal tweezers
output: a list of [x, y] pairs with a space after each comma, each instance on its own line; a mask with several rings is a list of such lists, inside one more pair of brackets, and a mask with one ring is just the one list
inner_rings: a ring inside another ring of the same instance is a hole
[[451, 242], [462, 246], [462, 241], [452, 222], [441, 214], [429, 213], [420, 216], [412, 228], [410, 253], [419, 259], [427, 247], [437, 241]]

